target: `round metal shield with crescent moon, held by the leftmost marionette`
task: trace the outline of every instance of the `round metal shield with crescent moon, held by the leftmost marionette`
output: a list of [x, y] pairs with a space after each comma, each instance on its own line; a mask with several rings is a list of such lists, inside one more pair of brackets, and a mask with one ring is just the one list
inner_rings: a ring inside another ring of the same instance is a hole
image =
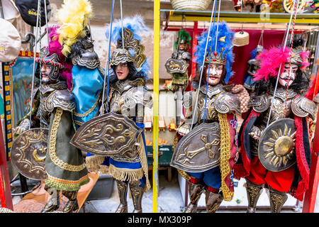
[[35, 180], [47, 178], [45, 155], [48, 133], [46, 128], [32, 128], [13, 141], [11, 162], [21, 175]]

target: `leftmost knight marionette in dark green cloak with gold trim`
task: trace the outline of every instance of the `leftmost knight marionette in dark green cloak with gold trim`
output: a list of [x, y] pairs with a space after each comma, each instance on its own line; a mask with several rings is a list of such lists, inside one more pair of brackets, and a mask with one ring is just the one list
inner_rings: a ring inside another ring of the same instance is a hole
[[[33, 138], [31, 136], [30, 141], [35, 143], [37, 140], [39, 144], [38, 147], [34, 145], [32, 157], [45, 163], [45, 189], [51, 195], [42, 212], [59, 208], [62, 191], [69, 199], [63, 212], [69, 213], [79, 209], [77, 192], [83, 184], [89, 182], [89, 177], [81, 150], [69, 143], [75, 133], [72, 119], [75, 100], [67, 85], [67, 78], [72, 78], [68, 67], [71, 63], [67, 62], [61, 53], [57, 28], [50, 29], [49, 48], [43, 48], [40, 57], [36, 59], [40, 65], [40, 87], [35, 93], [35, 105], [30, 119], [31, 128], [38, 130], [38, 133], [35, 133]], [[23, 131], [25, 134], [30, 132], [26, 131], [29, 117], [28, 114], [18, 123], [16, 133], [21, 135], [17, 140], [24, 135]], [[43, 140], [47, 141], [47, 144], [40, 145]], [[37, 150], [41, 152], [36, 153]], [[45, 152], [46, 156], [43, 157]]]

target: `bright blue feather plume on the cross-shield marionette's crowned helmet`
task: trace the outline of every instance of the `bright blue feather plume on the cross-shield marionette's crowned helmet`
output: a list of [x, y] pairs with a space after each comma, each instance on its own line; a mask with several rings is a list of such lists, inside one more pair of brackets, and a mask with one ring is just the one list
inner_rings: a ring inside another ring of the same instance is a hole
[[[217, 32], [217, 23], [211, 26], [211, 31], [209, 33], [209, 39], [208, 39], [208, 46], [206, 51], [206, 56], [209, 56], [210, 50], [211, 54], [215, 51], [215, 45], [216, 45], [216, 32]], [[197, 37], [198, 45], [196, 47], [195, 57], [194, 60], [196, 63], [198, 63], [202, 69], [203, 67], [203, 59], [205, 55], [205, 48], [206, 48], [206, 41], [208, 36], [208, 29], [201, 33], [199, 37]], [[219, 39], [225, 36], [225, 42], [220, 41]], [[233, 31], [228, 27], [227, 23], [225, 21], [222, 21], [219, 23], [218, 26], [218, 41], [217, 41], [217, 48], [216, 51], [218, 52], [218, 55], [220, 54], [222, 48], [224, 48], [223, 57], [226, 56], [226, 76], [225, 76], [225, 82], [227, 83], [230, 77], [233, 76], [232, 72], [232, 65], [234, 60], [233, 55], [233, 38], [234, 33]]]

